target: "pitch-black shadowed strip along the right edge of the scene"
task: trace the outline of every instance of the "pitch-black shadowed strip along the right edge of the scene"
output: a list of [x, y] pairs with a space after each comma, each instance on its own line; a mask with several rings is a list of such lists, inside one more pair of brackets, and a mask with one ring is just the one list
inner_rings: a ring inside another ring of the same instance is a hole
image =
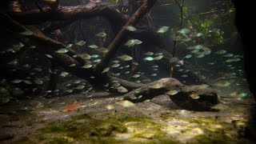
[[[245, 59], [245, 68], [248, 82], [250, 84], [250, 91], [254, 94], [254, 99], [256, 99], [256, 81], [255, 81], [255, 50], [254, 50], [254, 38], [255, 38], [255, 28], [254, 28], [254, 6], [246, 1], [233, 0], [234, 7], [236, 9], [236, 18], [235, 24], [238, 28], [238, 32], [242, 38], [243, 50], [244, 50], [244, 59]], [[248, 137], [256, 139], [256, 114], [255, 106], [251, 109], [251, 121], [250, 128], [248, 130]]]

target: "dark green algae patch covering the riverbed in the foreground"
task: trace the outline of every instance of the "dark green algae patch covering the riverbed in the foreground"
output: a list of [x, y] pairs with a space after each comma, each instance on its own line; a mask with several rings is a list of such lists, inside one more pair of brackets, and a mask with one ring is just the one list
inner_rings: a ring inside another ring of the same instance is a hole
[[[39, 130], [41, 137], [48, 138], [49, 135], [59, 137], [70, 137], [78, 141], [118, 141], [113, 138], [114, 134], [126, 133], [127, 128], [124, 126], [126, 122], [144, 122], [154, 125], [142, 114], [115, 114], [114, 111], [106, 114], [82, 114], [70, 118], [64, 122], [53, 122], [49, 126]], [[42, 141], [45, 141], [44, 138]], [[111, 140], [110, 140], [111, 139]], [[49, 140], [47, 140], [49, 141]]]

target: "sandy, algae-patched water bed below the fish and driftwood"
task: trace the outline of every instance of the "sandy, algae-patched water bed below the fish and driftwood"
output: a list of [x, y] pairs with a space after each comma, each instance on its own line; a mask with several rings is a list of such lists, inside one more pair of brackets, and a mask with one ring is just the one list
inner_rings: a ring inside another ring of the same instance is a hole
[[[81, 107], [65, 111], [74, 103]], [[119, 98], [85, 99], [79, 94], [21, 100], [1, 109], [2, 138], [10, 136], [2, 142], [249, 142], [245, 131], [251, 104], [245, 103], [226, 98], [214, 107], [218, 111], [197, 112], [171, 110], [170, 103], [161, 106], [154, 100], [126, 105]]]

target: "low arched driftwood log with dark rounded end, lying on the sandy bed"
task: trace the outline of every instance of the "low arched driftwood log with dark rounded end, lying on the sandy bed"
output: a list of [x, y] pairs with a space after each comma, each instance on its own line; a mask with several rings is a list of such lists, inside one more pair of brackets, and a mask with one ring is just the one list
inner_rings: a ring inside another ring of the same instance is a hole
[[218, 94], [214, 90], [205, 86], [185, 86], [175, 78], [162, 78], [151, 82], [125, 94], [123, 98], [131, 102], [143, 102], [162, 94], [170, 95], [170, 99], [177, 106], [186, 110], [211, 110], [212, 106], [218, 104]]

